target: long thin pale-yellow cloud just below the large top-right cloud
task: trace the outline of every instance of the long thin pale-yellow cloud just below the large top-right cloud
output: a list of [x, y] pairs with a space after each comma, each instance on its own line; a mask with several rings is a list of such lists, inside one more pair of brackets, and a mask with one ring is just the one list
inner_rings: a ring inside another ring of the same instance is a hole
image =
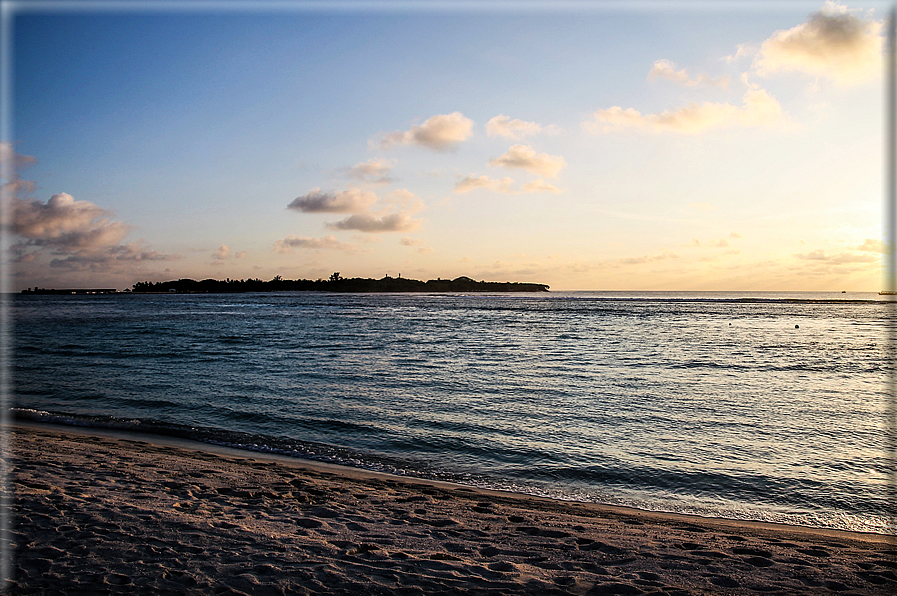
[[752, 86], [744, 94], [742, 107], [729, 103], [691, 103], [673, 112], [642, 114], [632, 108], [613, 106], [592, 114], [583, 127], [593, 134], [635, 131], [699, 134], [731, 127], [770, 126], [783, 122], [782, 106], [769, 93]]

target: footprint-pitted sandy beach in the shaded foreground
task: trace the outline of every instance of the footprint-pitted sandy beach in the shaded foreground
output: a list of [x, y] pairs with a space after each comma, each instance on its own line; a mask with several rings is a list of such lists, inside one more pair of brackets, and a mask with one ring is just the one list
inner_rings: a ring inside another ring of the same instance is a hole
[[12, 594], [893, 594], [893, 537], [17, 426]]

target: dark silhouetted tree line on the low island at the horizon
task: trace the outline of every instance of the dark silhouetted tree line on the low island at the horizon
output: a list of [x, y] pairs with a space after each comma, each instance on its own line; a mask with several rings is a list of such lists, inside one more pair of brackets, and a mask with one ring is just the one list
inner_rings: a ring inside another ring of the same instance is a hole
[[179, 279], [177, 281], [134, 284], [131, 293], [225, 293], [225, 292], [547, 292], [548, 285], [520, 282], [475, 281], [461, 276], [455, 279], [420, 281], [404, 277], [382, 279], [345, 278], [334, 273], [329, 279]]

